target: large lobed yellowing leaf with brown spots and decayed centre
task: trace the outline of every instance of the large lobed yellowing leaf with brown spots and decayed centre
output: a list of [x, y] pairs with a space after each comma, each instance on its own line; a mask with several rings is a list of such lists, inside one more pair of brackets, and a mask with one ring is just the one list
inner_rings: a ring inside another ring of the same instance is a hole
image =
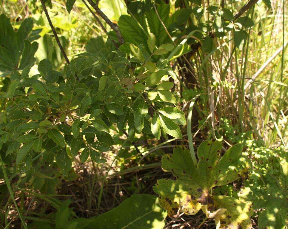
[[200, 209], [208, 218], [215, 218], [217, 228], [251, 227], [251, 203], [230, 196], [213, 196], [211, 188], [237, 179], [242, 145], [230, 147], [223, 157], [219, 151], [221, 142], [204, 141], [198, 148], [198, 164], [195, 166], [189, 150], [178, 146], [173, 154], [162, 157], [162, 169], [172, 172], [176, 180], [158, 180], [153, 187], [160, 196], [161, 206], [169, 216], [177, 215], [179, 209], [194, 215]]

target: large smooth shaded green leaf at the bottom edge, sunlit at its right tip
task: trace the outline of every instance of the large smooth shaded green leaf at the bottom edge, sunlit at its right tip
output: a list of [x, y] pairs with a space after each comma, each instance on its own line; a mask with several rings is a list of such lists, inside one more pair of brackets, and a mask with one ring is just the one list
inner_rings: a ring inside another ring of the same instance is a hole
[[89, 227], [160, 229], [165, 226], [166, 215], [154, 195], [134, 194], [118, 207], [98, 216], [89, 224]]

